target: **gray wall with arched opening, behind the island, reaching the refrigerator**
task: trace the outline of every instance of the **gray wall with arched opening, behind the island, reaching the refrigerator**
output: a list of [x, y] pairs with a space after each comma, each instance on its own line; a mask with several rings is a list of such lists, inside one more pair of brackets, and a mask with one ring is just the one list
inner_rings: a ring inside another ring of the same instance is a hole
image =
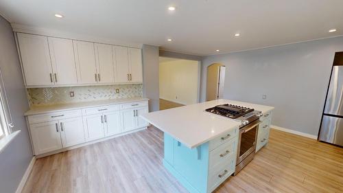
[[275, 106], [272, 124], [318, 135], [333, 56], [342, 51], [341, 36], [207, 56], [202, 60], [200, 100], [206, 98], [207, 67], [222, 63], [224, 98]]

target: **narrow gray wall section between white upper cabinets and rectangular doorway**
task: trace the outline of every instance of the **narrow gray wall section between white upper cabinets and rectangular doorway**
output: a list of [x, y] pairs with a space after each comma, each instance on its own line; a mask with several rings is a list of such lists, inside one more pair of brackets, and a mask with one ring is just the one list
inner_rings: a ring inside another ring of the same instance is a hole
[[150, 112], [160, 110], [158, 84], [158, 47], [143, 45], [143, 96], [149, 98]]

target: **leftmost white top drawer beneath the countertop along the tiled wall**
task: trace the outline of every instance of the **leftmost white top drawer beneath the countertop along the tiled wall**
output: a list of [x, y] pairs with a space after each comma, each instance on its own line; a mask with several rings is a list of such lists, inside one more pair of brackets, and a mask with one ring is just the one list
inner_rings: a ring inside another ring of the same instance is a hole
[[27, 116], [29, 124], [36, 124], [40, 122], [50, 122], [61, 119], [67, 119], [72, 117], [81, 117], [82, 113], [80, 110], [75, 111], [61, 111], [58, 113], [45, 113], [40, 115], [30, 115]]

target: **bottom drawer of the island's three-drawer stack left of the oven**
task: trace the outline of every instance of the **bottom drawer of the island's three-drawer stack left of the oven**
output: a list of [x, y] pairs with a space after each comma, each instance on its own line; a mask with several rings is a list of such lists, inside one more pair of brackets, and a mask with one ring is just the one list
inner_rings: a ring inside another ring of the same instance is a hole
[[225, 161], [224, 164], [217, 165], [213, 170], [209, 170], [209, 181], [207, 192], [212, 192], [217, 188], [223, 181], [230, 177], [233, 172], [235, 172], [236, 166], [236, 157], [231, 156], [228, 161]]

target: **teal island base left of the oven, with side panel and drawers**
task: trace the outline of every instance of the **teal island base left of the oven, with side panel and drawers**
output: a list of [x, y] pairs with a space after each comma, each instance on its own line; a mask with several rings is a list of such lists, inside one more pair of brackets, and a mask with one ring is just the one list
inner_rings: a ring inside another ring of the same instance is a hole
[[164, 133], [163, 165], [191, 193], [213, 192], [235, 172], [238, 128], [196, 148]]

